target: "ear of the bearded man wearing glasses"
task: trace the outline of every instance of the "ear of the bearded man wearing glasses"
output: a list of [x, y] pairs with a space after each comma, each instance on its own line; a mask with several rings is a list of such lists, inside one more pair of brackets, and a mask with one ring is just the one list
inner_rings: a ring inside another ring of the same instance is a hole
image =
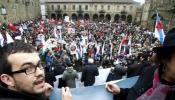
[[13, 87], [15, 85], [14, 79], [7, 74], [1, 74], [0, 80], [7, 86]]

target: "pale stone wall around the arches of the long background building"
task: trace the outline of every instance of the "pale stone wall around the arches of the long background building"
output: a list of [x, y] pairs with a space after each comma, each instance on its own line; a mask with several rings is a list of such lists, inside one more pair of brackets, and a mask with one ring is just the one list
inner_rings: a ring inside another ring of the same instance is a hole
[[46, 2], [45, 5], [49, 18], [58, 19], [60, 16], [63, 18], [64, 15], [72, 18], [73, 14], [77, 18], [79, 15], [84, 18], [86, 14], [90, 20], [93, 20], [94, 16], [97, 15], [98, 19], [103, 17], [105, 19], [107, 18], [106, 16], [110, 16], [111, 21], [115, 20], [116, 15], [119, 15], [119, 20], [121, 20], [122, 15], [126, 17], [126, 20], [130, 15], [132, 16], [132, 21], [134, 21], [134, 19], [137, 19], [137, 9], [141, 7], [139, 3], [135, 2]]

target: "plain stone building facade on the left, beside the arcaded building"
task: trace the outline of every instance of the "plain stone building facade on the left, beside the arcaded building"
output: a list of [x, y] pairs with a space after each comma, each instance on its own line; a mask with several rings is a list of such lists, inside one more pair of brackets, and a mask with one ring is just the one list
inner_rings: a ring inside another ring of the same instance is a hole
[[0, 22], [19, 22], [40, 17], [39, 0], [0, 0]]

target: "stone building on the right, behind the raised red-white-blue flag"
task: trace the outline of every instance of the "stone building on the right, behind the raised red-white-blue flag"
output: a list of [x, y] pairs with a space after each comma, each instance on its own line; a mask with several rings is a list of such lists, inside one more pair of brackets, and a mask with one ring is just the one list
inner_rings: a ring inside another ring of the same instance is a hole
[[145, 0], [142, 13], [142, 25], [154, 30], [156, 10], [161, 17], [164, 29], [175, 24], [175, 0]]

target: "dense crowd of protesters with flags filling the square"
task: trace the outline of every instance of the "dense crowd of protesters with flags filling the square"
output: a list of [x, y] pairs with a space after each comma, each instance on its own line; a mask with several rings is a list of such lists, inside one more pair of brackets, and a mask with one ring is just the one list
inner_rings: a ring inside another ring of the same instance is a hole
[[120, 79], [126, 73], [127, 77], [139, 75], [151, 64], [152, 47], [159, 45], [153, 32], [124, 21], [37, 19], [1, 24], [1, 46], [12, 41], [10, 36], [34, 45], [47, 71], [54, 76], [63, 74], [70, 64], [81, 72], [92, 58], [98, 66], [112, 67], [110, 74], [115, 76], [109, 76], [107, 81]]

